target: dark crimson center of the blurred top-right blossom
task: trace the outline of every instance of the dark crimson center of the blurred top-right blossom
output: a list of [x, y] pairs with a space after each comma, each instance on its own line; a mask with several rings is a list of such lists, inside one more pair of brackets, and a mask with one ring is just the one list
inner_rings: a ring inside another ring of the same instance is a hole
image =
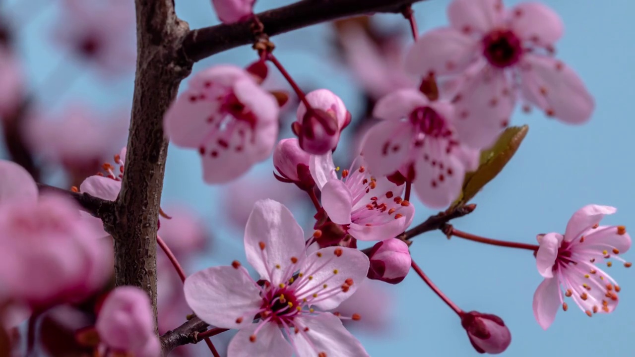
[[514, 65], [523, 55], [523, 46], [516, 34], [507, 29], [496, 29], [483, 37], [483, 55], [491, 65], [505, 68]]

